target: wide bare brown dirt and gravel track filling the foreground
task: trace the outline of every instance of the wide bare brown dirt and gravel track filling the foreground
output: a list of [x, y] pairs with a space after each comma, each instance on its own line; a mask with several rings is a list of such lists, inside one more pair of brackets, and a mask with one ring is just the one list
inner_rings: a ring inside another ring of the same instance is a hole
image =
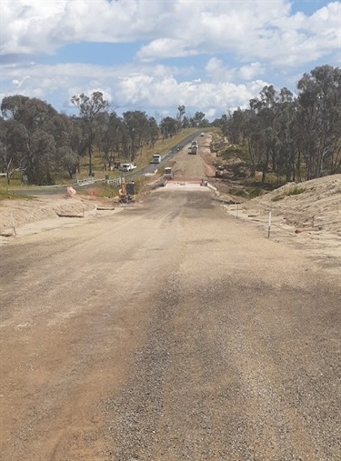
[[200, 189], [58, 223], [1, 246], [1, 459], [341, 458], [337, 255]]

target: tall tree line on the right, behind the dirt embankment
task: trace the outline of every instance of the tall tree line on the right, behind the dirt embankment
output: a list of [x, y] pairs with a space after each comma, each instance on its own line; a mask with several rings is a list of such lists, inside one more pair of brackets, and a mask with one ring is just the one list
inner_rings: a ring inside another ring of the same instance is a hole
[[341, 69], [317, 66], [296, 88], [293, 95], [266, 85], [246, 109], [213, 123], [243, 146], [251, 175], [261, 171], [263, 183], [269, 172], [286, 181], [341, 173]]

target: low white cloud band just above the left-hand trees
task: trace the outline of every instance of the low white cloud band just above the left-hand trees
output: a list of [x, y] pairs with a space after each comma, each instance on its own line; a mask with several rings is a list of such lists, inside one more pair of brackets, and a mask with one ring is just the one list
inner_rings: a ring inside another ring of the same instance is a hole
[[[24, 75], [20, 79], [19, 76]], [[200, 110], [226, 112], [229, 106], [246, 105], [267, 83], [263, 80], [236, 85], [231, 82], [207, 83], [199, 78], [180, 81], [175, 68], [145, 65], [105, 67], [100, 65], [30, 65], [28, 68], [4, 67], [4, 76], [11, 82], [6, 95], [20, 94], [40, 97], [58, 105], [69, 105], [72, 95], [102, 91], [117, 107], [143, 108], [148, 111], [179, 104], [200, 107]], [[8, 75], [6, 75], [8, 72]], [[65, 90], [67, 88], [67, 90]], [[4, 97], [4, 95], [1, 95]], [[70, 105], [71, 106], [71, 105]]]

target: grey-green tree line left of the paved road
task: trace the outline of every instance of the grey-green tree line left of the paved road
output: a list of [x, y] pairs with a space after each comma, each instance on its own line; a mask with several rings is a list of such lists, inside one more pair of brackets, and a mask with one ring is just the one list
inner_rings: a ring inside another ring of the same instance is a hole
[[118, 160], [134, 162], [145, 147], [153, 148], [159, 137], [168, 138], [189, 126], [208, 125], [205, 114], [186, 116], [179, 105], [175, 118], [166, 116], [157, 124], [154, 116], [135, 110], [118, 116], [101, 92], [74, 95], [71, 103], [78, 115], [58, 113], [38, 98], [12, 95], [3, 99], [0, 118], [0, 169], [9, 183], [15, 171], [29, 184], [54, 184], [57, 172], [70, 179], [80, 170], [80, 160], [88, 155], [88, 175], [93, 174], [95, 147], [105, 168]]

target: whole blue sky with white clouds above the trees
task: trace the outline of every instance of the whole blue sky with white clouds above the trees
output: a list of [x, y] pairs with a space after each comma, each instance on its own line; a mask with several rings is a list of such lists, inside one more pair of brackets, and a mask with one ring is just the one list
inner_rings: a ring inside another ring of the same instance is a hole
[[0, 98], [75, 113], [102, 91], [121, 115], [214, 119], [264, 85], [295, 91], [316, 65], [341, 65], [341, 2], [324, 0], [0, 0]]

